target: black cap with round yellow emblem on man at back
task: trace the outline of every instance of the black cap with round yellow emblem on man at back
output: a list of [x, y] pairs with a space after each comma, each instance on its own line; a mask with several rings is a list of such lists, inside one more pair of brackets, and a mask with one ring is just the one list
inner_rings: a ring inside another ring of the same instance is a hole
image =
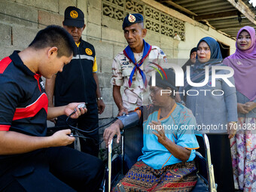
[[64, 26], [84, 27], [84, 13], [81, 9], [69, 6], [66, 8], [64, 15]]

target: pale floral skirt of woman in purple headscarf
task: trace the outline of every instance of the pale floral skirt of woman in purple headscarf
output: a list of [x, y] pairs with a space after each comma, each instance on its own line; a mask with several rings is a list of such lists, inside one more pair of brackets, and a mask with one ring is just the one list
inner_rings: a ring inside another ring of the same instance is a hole
[[238, 130], [230, 139], [236, 189], [256, 192], [256, 118], [239, 117]]

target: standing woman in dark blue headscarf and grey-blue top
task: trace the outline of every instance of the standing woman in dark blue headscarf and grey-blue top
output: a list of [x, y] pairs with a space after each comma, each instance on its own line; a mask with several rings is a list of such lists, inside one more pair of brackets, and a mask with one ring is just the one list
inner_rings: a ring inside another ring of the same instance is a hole
[[[204, 82], [207, 68], [209, 79], [203, 86], [192, 87], [187, 83], [187, 77], [179, 92], [184, 91], [184, 101], [196, 117], [197, 130], [199, 133], [207, 133], [209, 137], [217, 190], [230, 192], [234, 191], [234, 184], [229, 137], [235, 135], [230, 127], [233, 128], [237, 120], [236, 89], [221, 78], [217, 78], [215, 87], [212, 87], [213, 66], [223, 66], [221, 49], [215, 39], [202, 38], [197, 44], [197, 61], [194, 68], [190, 69], [190, 80], [194, 83]], [[217, 75], [228, 73], [227, 70], [216, 72]], [[233, 77], [228, 80], [234, 84]], [[203, 139], [200, 139], [201, 142], [199, 139], [199, 143], [202, 143]], [[203, 148], [199, 151], [204, 154]]]

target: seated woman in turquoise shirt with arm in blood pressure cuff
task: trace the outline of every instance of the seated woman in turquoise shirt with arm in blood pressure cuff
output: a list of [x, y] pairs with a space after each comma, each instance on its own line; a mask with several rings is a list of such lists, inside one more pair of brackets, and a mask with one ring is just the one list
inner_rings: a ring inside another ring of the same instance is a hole
[[197, 183], [196, 120], [189, 109], [175, 102], [175, 73], [164, 72], [166, 77], [157, 73], [156, 86], [150, 88], [153, 105], [118, 117], [104, 132], [110, 144], [114, 135], [119, 142], [124, 126], [139, 123], [143, 127], [142, 156], [113, 191], [190, 191]]

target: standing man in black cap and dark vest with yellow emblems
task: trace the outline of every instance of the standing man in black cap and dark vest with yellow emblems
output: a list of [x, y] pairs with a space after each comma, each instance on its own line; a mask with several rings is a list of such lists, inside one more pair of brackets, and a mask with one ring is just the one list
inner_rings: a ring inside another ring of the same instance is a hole
[[[69, 102], [86, 102], [87, 114], [81, 115], [78, 120], [72, 120], [72, 126], [81, 130], [91, 131], [99, 126], [98, 113], [102, 114], [105, 104], [99, 91], [97, 77], [96, 53], [92, 44], [81, 38], [84, 31], [84, 13], [79, 8], [68, 7], [65, 11], [63, 27], [72, 35], [78, 47], [78, 55], [74, 56], [69, 66], [62, 72], [46, 81], [46, 92], [49, 105], [66, 105]], [[56, 126], [66, 126], [66, 116], [57, 118]], [[88, 139], [80, 139], [81, 151], [94, 156], [99, 152], [98, 130], [92, 133], [83, 133]], [[72, 146], [73, 147], [73, 146]]]

